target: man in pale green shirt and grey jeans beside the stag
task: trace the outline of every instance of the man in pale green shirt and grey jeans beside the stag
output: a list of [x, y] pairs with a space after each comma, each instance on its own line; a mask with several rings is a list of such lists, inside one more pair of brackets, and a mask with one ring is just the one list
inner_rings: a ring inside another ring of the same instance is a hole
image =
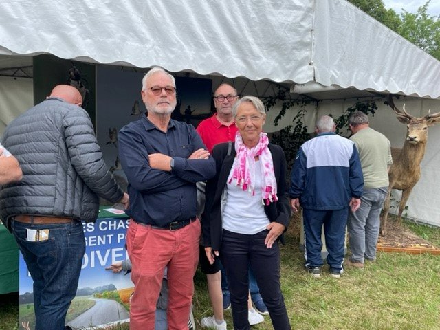
[[347, 227], [351, 257], [344, 264], [362, 268], [365, 259], [376, 259], [380, 210], [388, 192], [388, 170], [393, 159], [390, 141], [382, 133], [370, 128], [365, 113], [355, 111], [349, 118], [349, 128], [353, 133], [350, 140], [358, 148], [364, 173], [364, 195], [360, 208], [349, 213]]

